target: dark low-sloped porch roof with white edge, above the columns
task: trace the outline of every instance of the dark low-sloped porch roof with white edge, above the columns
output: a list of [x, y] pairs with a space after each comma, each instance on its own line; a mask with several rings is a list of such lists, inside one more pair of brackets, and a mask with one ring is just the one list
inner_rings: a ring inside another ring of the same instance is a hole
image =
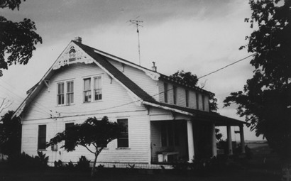
[[200, 111], [197, 109], [190, 109], [173, 104], [165, 104], [162, 102], [143, 102], [143, 103], [149, 106], [155, 106], [161, 109], [166, 109], [180, 114], [185, 114], [195, 120], [213, 122], [216, 126], [243, 126], [243, 124], [247, 124], [245, 121], [240, 121], [238, 119], [232, 119], [226, 116], [221, 116], [220, 114], [214, 112]]

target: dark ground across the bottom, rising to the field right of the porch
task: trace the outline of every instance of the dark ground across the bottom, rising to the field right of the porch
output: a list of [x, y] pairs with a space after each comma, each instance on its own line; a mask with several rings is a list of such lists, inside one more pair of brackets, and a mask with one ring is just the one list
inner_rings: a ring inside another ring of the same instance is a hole
[[266, 143], [248, 143], [253, 152], [253, 159], [243, 165], [219, 170], [219, 172], [189, 172], [185, 170], [115, 170], [107, 169], [97, 172], [97, 177], [90, 178], [89, 172], [72, 172], [70, 170], [55, 170], [49, 168], [45, 171], [16, 171], [6, 169], [1, 163], [0, 181], [8, 180], [197, 180], [197, 181], [276, 181], [280, 180], [280, 165]]

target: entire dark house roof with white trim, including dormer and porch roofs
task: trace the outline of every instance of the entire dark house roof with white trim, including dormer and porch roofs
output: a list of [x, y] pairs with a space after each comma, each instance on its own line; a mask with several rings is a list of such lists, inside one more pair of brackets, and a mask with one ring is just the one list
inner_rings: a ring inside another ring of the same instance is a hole
[[[109, 60], [116, 60], [118, 62], [121, 62], [121, 64], [129, 65], [131, 67], [135, 67], [138, 70], [142, 70], [146, 73], [146, 75], [150, 76], [152, 79], [155, 80], [162, 80], [167, 82], [172, 82], [173, 84], [178, 84], [181, 87], [185, 87], [187, 89], [194, 89], [196, 91], [202, 92], [204, 94], [213, 94], [212, 92], [207, 92], [204, 89], [201, 89], [199, 87], [186, 84], [185, 82], [178, 82], [175, 79], [172, 79], [171, 77], [168, 77], [166, 75], [162, 75], [158, 72], [155, 72], [153, 70], [149, 70], [145, 67], [141, 67], [140, 65], [136, 65], [132, 62], [129, 62], [127, 60], [123, 60], [120, 57], [116, 57], [114, 55], [110, 55], [109, 53], [104, 53], [101, 50], [97, 50], [95, 48], [89, 47], [87, 45], [84, 45], [82, 43], [79, 43], [75, 40], [72, 40], [69, 45], [67, 45], [67, 48], [65, 50], [69, 52], [70, 48], [76, 48], [79, 52], [76, 54], [78, 55], [77, 58], [74, 60], [76, 62], [84, 62], [84, 63], [95, 63], [97, 64], [102, 70], [104, 70], [112, 79], [115, 79], [116, 82], [119, 82], [123, 88], [125, 88], [128, 92], [130, 92], [133, 97], [135, 97], [136, 102], [141, 102], [141, 104], [147, 105], [147, 106], [154, 106], [161, 109], [167, 109], [169, 111], [174, 111], [180, 114], [186, 114], [195, 118], [201, 118], [201, 119], [211, 119], [216, 120], [216, 123], [221, 124], [233, 124], [233, 125], [241, 125], [244, 122], [238, 121], [236, 119], [231, 119], [225, 116], [221, 116], [219, 114], [215, 113], [209, 113], [205, 111], [199, 111], [196, 109], [189, 109], [181, 106], [171, 105], [171, 104], [165, 104], [156, 101], [152, 96], [150, 96], [146, 91], [141, 89], [135, 82], [133, 82], [131, 79], [129, 79], [126, 75], [123, 74], [120, 70], [118, 70], [114, 65], [112, 65]], [[53, 75], [53, 70], [56, 70], [60, 68], [63, 65], [67, 65], [70, 62], [69, 60], [65, 59], [63, 56], [70, 56], [65, 55], [65, 50], [62, 52], [60, 57], [57, 58], [55, 63], [52, 67], [48, 70], [48, 72], [45, 73], [42, 79], [40, 79], [40, 82], [38, 84], [35, 84], [34, 87], [32, 87], [30, 90], [28, 90], [28, 96], [23, 101], [23, 103], [16, 109], [16, 112], [13, 116], [19, 116], [23, 109], [33, 102], [34, 97], [38, 92], [40, 92], [41, 87], [47, 85], [47, 80]], [[75, 49], [74, 49], [75, 50]]]

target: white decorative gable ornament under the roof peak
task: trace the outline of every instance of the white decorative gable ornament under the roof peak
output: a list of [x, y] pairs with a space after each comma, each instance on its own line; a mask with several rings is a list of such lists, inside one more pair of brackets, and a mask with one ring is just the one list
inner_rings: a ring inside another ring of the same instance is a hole
[[92, 57], [85, 53], [81, 48], [74, 43], [71, 43], [68, 48], [60, 55], [53, 65], [53, 70], [57, 70], [62, 66], [84, 62], [85, 64], [93, 63]]

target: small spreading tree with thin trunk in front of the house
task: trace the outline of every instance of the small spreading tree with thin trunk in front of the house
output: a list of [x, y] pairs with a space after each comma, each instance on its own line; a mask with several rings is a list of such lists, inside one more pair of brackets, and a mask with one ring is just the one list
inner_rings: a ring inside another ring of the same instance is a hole
[[50, 139], [47, 147], [61, 141], [65, 141], [61, 148], [65, 148], [67, 152], [75, 150], [77, 146], [84, 146], [95, 156], [91, 172], [93, 177], [98, 155], [108, 143], [119, 138], [124, 129], [123, 124], [111, 122], [106, 116], [100, 121], [95, 117], [88, 118], [83, 124], [75, 124], [62, 133], [57, 133], [54, 138]]

